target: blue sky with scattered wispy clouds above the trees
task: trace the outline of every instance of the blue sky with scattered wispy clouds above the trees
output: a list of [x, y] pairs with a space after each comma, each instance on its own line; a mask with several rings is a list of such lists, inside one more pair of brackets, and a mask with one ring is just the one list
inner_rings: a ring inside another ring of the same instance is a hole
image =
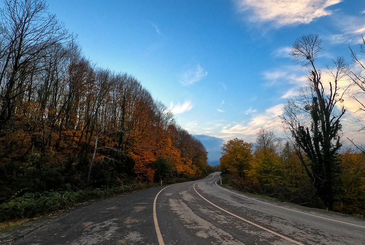
[[[306, 71], [288, 53], [297, 37], [319, 33], [331, 59], [350, 59], [365, 34], [365, 1], [49, 0], [49, 11], [78, 34], [93, 62], [128, 72], [164, 102], [193, 135], [216, 144], [233, 137], [254, 141], [265, 127], [279, 136], [278, 115], [286, 99], [305, 84]], [[361, 142], [351, 124], [360, 114], [349, 108], [347, 137]], [[223, 139], [223, 140], [222, 140]], [[203, 140], [204, 143], [204, 140]], [[365, 142], [361, 142], [365, 143]], [[205, 142], [208, 151], [210, 146]], [[218, 160], [210, 154], [210, 160]]]

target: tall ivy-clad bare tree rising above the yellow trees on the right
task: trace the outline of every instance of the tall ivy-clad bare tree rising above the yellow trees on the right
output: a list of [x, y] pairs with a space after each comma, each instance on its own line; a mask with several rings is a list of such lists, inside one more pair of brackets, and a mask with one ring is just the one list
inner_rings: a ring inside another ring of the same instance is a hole
[[285, 104], [282, 119], [300, 148], [297, 154], [318, 196], [324, 206], [331, 209], [340, 170], [337, 160], [342, 145], [340, 119], [346, 112], [342, 102], [347, 87], [341, 88], [339, 82], [347, 74], [348, 65], [342, 57], [333, 60], [334, 67], [327, 66], [332, 79], [325, 87], [322, 71], [316, 67], [316, 59], [322, 51], [318, 34], [303, 35], [294, 42], [291, 56], [302, 68], [308, 68], [308, 82], [300, 89], [300, 95]]

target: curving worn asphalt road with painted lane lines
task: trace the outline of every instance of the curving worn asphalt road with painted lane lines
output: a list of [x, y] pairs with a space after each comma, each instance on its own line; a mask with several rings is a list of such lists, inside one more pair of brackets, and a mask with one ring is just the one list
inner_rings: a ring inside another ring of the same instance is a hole
[[30, 222], [0, 244], [365, 244], [364, 219], [245, 195], [217, 180], [219, 172], [98, 201]]

